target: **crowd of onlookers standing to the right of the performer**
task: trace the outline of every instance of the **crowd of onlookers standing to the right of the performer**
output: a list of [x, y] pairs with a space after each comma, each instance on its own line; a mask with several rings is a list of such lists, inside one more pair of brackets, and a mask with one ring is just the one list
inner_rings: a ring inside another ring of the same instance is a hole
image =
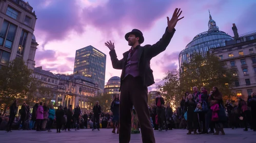
[[[169, 104], [165, 106], [164, 98], [157, 92], [155, 104], [149, 107], [154, 130], [171, 130], [172, 128], [188, 129], [187, 134], [225, 135], [224, 127], [248, 127], [256, 131], [256, 92], [252, 92], [247, 102], [242, 98], [237, 104], [223, 102], [222, 93], [218, 87], [213, 87], [208, 94], [205, 87], [193, 87], [193, 92], [185, 93], [180, 107], [172, 112]], [[214, 132], [215, 128], [215, 132]], [[210, 131], [208, 132], [208, 129]]]

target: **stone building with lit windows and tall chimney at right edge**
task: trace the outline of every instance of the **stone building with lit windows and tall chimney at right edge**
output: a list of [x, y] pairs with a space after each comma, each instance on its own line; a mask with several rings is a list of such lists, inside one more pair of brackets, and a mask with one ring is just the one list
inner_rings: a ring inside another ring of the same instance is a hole
[[235, 24], [232, 30], [234, 39], [226, 41], [224, 47], [211, 49], [210, 53], [218, 56], [220, 62], [226, 63], [232, 70], [237, 70], [234, 76], [239, 79], [235, 81], [232, 91], [247, 101], [247, 97], [256, 91], [256, 31], [239, 36]]

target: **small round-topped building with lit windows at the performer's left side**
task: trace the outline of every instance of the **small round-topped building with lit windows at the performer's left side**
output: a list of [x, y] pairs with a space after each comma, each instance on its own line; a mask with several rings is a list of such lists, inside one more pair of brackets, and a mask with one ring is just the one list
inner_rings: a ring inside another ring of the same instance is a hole
[[112, 97], [114, 94], [120, 94], [119, 92], [120, 84], [121, 84], [120, 77], [117, 77], [117, 76], [111, 77], [108, 80], [108, 83], [105, 85], [104, 93], [111, 94]]

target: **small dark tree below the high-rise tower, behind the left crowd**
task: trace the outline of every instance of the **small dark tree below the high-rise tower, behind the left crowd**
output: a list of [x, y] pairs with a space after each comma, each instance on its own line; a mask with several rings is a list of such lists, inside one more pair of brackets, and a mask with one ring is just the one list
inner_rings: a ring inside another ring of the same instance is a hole
[[92, 107], [94, 106], [96, 101], [99, 101], [102, 111], [108, 112], [110, 110], [111, 102], [112, 102], [112, 96], [111, 94], [103, 94], [101, 96], [100, 94], [95, 97], [88, 97], [89, 103], [92, 104]]

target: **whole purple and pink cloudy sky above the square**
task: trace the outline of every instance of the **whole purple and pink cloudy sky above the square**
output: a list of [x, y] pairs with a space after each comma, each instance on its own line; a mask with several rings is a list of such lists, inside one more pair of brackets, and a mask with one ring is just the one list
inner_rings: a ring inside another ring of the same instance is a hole
[[[124, 35], [140, 29], [145, 41], [153, 44], [163, 35], [166, 16], [175, 8], [185, 16], [176, 25], [176, 32], [166, 51], [151, 60], [156, 83], [161, 83], [164, 73], [179, 66], [180, 51], [201, 32], [208, 30], [209, 13], [221, 31], [233, 36], [232, 23], [239, 34], [256, 30], [256, 1], [247, 0], [30, 0], [37, 16], [34, 35], [38, 44], [36, 66], [53, 73], [73, 72], [75, 51], [92, 45], [107, 55], [106, 78], [120, 76], [121, 70], [112, 68], [109, 49], [104, 42], [115, 43], [117, 57], [129, 50]], [[153, 90], [155, 85], [149, 87]]]

